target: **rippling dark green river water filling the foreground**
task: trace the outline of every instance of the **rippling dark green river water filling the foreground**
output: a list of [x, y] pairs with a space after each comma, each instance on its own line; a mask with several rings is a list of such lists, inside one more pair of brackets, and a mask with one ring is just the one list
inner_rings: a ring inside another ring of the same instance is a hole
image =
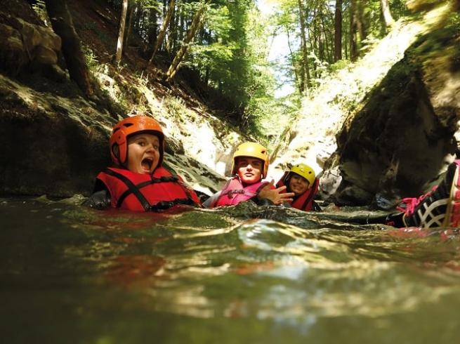
[[0, 199], [1, 341], [456, 343], [459, 236], [355, 215]]

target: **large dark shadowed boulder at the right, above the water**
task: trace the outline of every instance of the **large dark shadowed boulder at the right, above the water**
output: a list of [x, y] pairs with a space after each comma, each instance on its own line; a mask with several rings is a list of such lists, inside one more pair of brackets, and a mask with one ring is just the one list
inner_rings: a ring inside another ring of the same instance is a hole
[[456, 29], [420, 37], [339, 133], [343, 181], [336, 202], [378, 204], [438, 183], [458, 150], [459, 89]]

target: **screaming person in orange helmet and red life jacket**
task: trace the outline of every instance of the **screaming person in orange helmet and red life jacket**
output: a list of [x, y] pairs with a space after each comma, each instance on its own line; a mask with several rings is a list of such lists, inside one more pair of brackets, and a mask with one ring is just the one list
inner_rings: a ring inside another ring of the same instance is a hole
[[98, 174], [86, 206], [130, 211], [164, 211], [178, 204], [201, 206], [195, 191], [162, 166], [165, 137], [155, 119], [138, 115], [119, 121], [109, 144], [115, 167]]

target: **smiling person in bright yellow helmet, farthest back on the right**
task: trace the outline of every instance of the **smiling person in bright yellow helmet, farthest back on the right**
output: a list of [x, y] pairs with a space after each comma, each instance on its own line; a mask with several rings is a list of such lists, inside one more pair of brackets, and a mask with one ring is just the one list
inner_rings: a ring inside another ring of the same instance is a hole
[[297, 164], [289, 171], [284, 172], [276, 186], [286, 185], [287, 192], [294, 192], [293, 200], [288, 203], [292, 208], [303, 211], [320, 211], [320, 206], [315, 203], [319, 184], [313, 168], [305, 164]]

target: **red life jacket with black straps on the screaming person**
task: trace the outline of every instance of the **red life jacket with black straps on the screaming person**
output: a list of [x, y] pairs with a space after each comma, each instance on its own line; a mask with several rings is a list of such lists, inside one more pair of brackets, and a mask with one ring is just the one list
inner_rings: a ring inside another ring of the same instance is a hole
[[200, 201], [179, 176], [166, 168], [152, 175], [123, 168], [107, 168], [96, 177], [110, 192], [112, 207], [131, 211], [163, 211], [177, 204], [200, 206]]

